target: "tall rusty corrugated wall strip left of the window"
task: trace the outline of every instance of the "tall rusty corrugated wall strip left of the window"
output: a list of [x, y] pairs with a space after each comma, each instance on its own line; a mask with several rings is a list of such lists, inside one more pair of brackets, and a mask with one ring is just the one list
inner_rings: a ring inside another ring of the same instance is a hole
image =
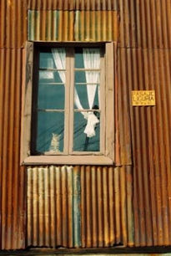
[[23, 43], [27, 38], [23, 1], [0, 1], [0, 246], [25, 248], [26, 187], [19, 165]]

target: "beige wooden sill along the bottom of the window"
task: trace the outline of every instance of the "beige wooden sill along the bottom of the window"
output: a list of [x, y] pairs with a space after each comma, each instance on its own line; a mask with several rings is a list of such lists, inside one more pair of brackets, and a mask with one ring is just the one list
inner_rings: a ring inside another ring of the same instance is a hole
[[108, 156], [28, 156], [23, 165], [113, 165]]

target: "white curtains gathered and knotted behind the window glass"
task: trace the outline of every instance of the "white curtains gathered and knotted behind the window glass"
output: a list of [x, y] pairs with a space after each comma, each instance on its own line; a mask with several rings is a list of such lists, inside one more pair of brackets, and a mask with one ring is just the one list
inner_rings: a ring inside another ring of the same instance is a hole
[[[57, 69], [65, 69], [66, 66], [66, 52], [63, 48], [53, 48], [53, 59]], [[83, 64], [85, 69], [99, 69], [100, 68], [100, 51], [99, 49], [83, 49]], [[59, 76], [63, 83], [65, 83], [65, 72], [59, 71]], [[99, 72], [86, 71], [86, 82], [88, 91], [88, 105], [89, 109], [93, 109], [93, 102], [96, 95], [97, 84], [99, 83]], [[93, 83], [93, 84], [92, 84]], [[98, 90], [98, 100], [99, 100], [99, 90]], [[74, 103], [79, 110], [83, 110], [80, 99], [78, 97], [78, 92], [74, 87]], [[98, 124], [99, 120], [92, 111], [82, 112], [83, 117], [87, 120], [87, 125], [85, 127], [84, 133], [88, 137], [95, 136], [95, 125]]]

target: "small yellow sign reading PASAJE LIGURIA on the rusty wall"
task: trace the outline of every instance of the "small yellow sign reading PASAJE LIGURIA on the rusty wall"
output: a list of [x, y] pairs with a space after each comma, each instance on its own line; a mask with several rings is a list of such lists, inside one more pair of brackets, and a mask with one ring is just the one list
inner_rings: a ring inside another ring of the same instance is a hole
[[132, 90], [132, 105], [155, 105], [155, 91]]

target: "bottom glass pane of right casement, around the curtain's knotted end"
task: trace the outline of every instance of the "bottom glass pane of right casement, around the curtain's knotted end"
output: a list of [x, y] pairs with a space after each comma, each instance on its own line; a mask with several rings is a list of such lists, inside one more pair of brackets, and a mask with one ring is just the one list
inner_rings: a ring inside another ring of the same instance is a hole
[[87, 120], [82, 113], [74, 113], [73, 151], [100, 151], [100, 123], [95, 126], [95, 136], [84, 133]]

